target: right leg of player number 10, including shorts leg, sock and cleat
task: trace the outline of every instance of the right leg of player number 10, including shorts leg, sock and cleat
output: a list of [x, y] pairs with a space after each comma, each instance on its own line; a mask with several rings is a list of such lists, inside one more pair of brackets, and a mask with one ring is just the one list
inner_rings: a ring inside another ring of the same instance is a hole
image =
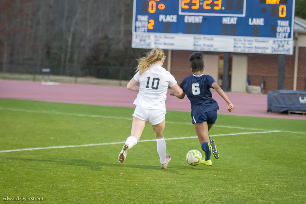
[[166, 169], [171, 160], [170, 155], [166, 153], [167, 146], [163, 134], [166, 125], [166, 111], [155, 110], [154, 113], [152, 113], [151, 115], [152, 119], [150, 119], [150, 122], [152, 124], [152, 128], [156, 138], [156, 149], [157, 153], [159, 154], [160, 164], [162, 169]]

